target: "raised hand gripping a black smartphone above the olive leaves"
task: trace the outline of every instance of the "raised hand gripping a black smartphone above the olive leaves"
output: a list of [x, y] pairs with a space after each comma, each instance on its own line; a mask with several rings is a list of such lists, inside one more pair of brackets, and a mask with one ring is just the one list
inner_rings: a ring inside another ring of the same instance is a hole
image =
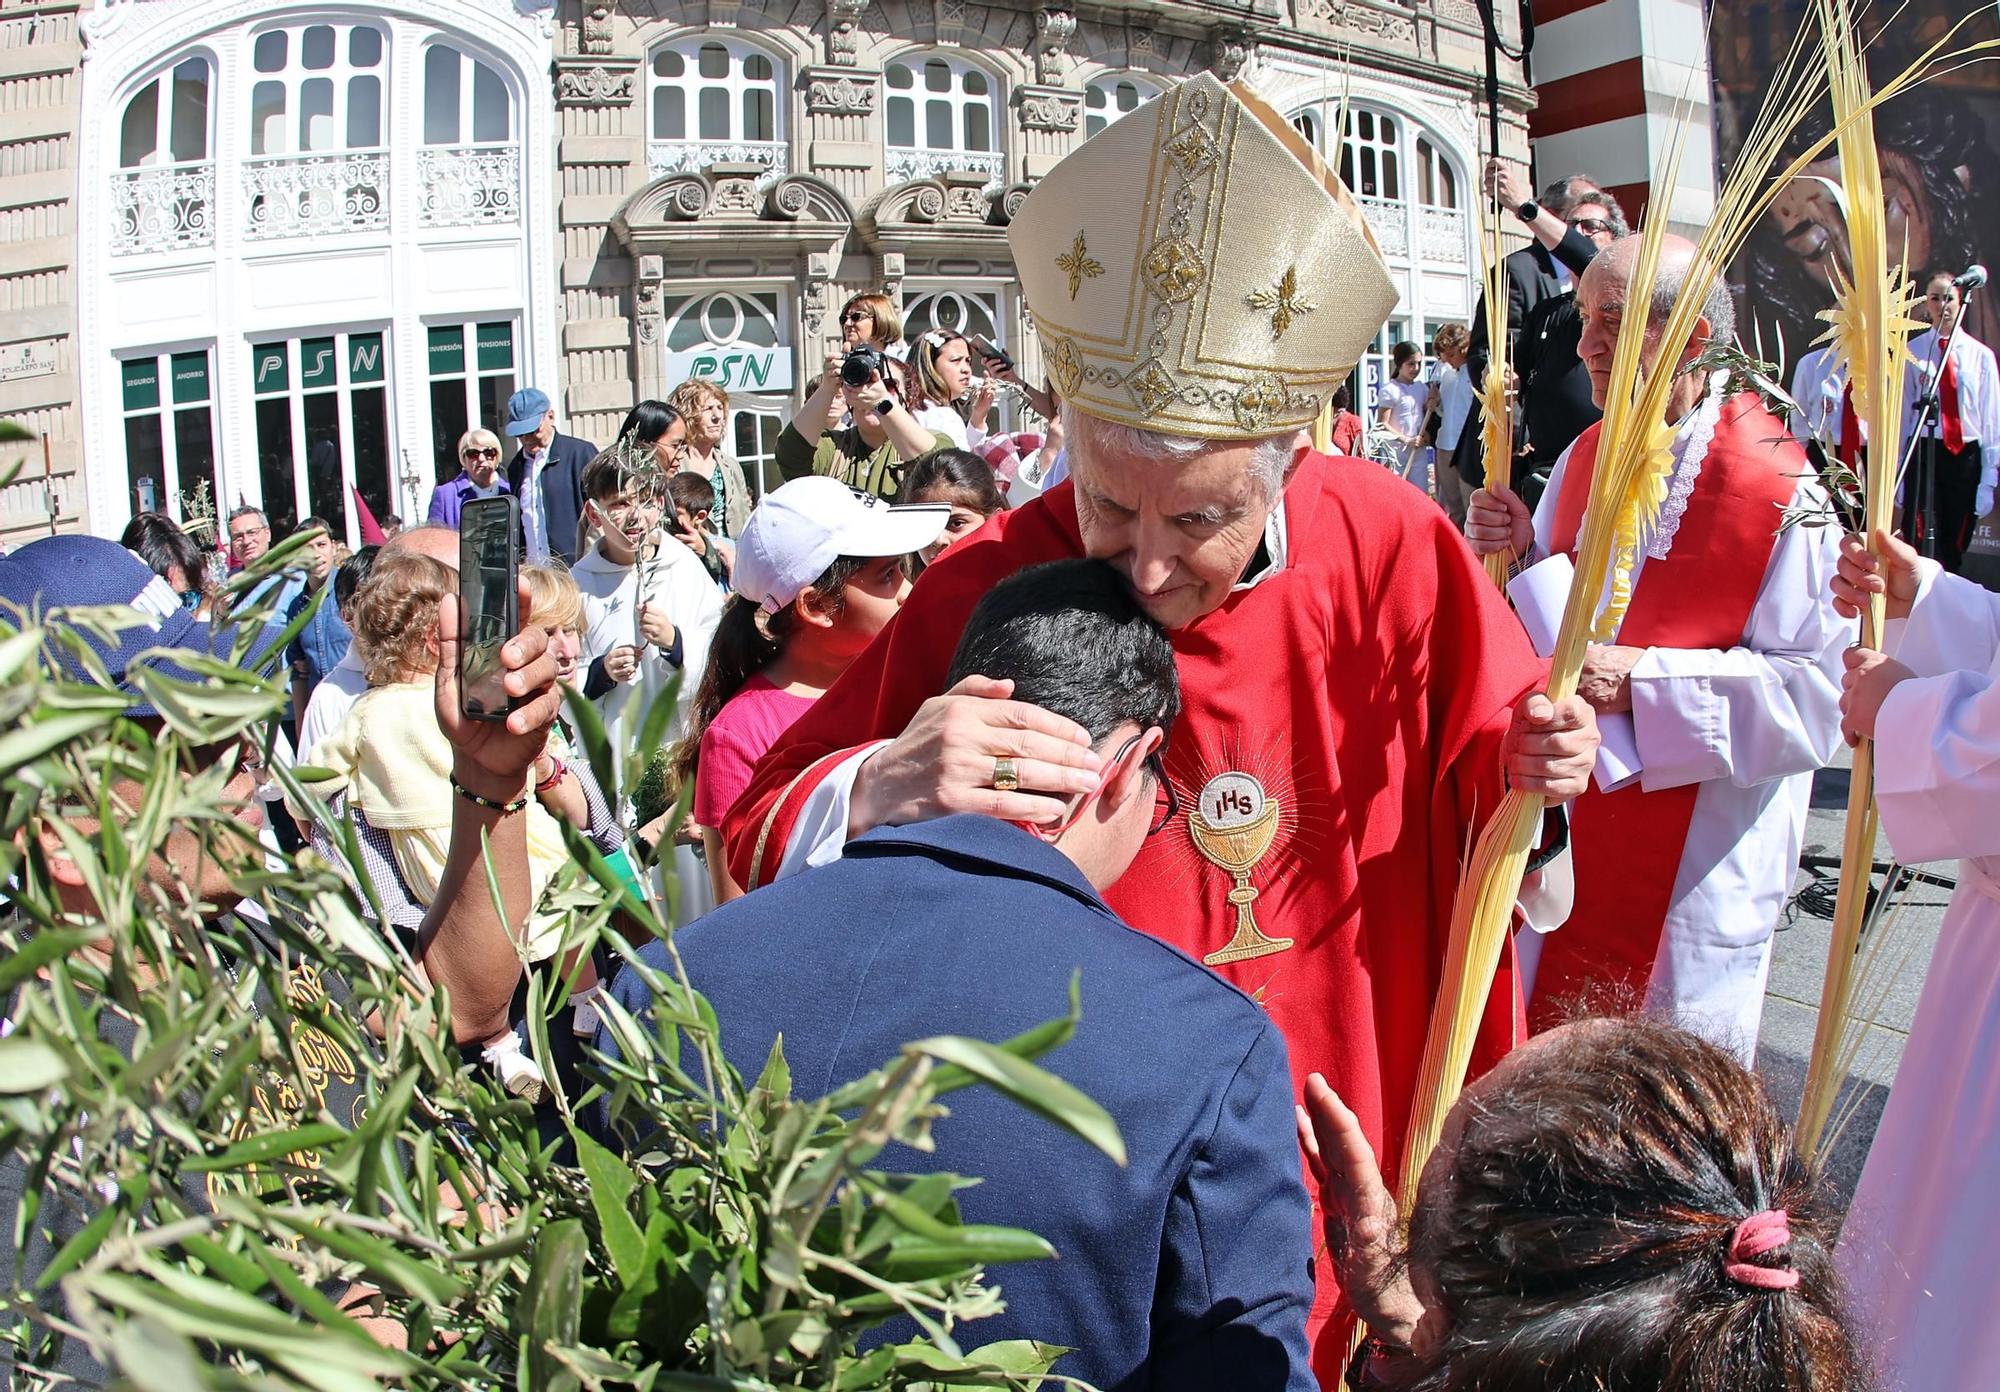
[[514, 802], [528, 786], [528, 770], [548, 744], [548, 730], [562, 712], [556, 654], [548, 630], [534, 622], [534, 596], [520, 580], [520, 632], [500, 644], [500, 690], [514, 700], [506, 720], [474, 720], [458, 692], [458, 594], [438, 602], [438, 674], [434, 706], [438, 730], [452, 742], [452, 774], [468, 792], [494, 802]]

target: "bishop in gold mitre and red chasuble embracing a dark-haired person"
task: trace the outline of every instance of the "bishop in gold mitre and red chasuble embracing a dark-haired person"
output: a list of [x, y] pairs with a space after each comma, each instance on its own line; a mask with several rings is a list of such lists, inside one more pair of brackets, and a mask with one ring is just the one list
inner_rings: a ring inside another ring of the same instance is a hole
[[[1392, 1164], [1460, 856], [1506, 778], [1556, 800], [1584, 788], [1594, 718], [1538, 694], [1544, 664], [1436, 504], [1310, 450], [1396, 290], [1346, 188], [1276, 112], [1188, 78], [1058, 164], [1010, 242], [1072, 478], [924, 572], [758, 766], [726, 818], [730, 870], [754, 888], [942, 812], [1060, 820], [1096, 786], [1088, 736], [1004, 684], [942, 680], [1002, 576], [1108, 558], [1172, 630], [1184, 700], [1178, 808], [1108, 902], [1262, 1002], [1296, 1080], [1326, 1074]], [[1082, 984], [1082, 1028], [1092, 994], [1116, 990]], [[1516, 1028], [1504, 976], [1484, 1060]], [[1330, 1266], [1314, 1366], [1334, 1386]]]

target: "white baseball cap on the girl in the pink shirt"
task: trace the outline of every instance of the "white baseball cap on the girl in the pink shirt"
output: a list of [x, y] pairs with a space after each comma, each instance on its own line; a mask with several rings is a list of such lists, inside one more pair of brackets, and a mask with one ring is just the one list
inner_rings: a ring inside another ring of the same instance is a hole
[[736, 594], [776, 614], [840, 556], [904, 556], [930, 546], [950, 506], [892, 508], [838, 478], [794, 478], [764, 494], [736, 538]]

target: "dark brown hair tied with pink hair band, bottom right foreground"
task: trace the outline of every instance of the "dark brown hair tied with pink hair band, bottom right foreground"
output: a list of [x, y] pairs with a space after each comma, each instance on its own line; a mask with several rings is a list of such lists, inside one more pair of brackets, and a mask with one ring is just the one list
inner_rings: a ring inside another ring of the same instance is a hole
[[[1648, 1016], [1588, 1020], [1468, 1096], [1410, 1224], [1444, 1334], [1424, 1392], [1860, 1392], [1838, 1216], [1758, 1080]], [[1738, 1224], [1784, 1210], [1796, 1272], [1724, 1272]]]

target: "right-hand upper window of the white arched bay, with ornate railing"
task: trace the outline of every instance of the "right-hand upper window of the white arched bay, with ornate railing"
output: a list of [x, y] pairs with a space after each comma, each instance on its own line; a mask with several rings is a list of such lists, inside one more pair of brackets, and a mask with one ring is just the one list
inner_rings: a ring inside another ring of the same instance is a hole
[[500, 72], [452, 44], [424, 48], [418, 220], [462, 228], [520, 220], [514, 98]]

